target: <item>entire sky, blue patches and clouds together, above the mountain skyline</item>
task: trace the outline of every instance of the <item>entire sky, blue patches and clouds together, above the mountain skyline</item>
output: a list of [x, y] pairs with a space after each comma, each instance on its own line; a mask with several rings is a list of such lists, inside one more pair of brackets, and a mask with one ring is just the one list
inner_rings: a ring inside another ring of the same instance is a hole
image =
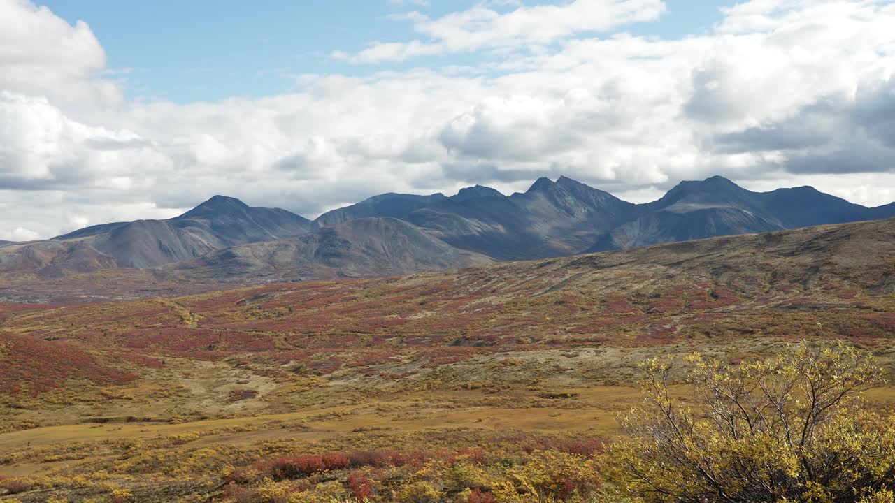
[[895, 200], [895, 2], [0, 0], [0, 240], [567, 175]]

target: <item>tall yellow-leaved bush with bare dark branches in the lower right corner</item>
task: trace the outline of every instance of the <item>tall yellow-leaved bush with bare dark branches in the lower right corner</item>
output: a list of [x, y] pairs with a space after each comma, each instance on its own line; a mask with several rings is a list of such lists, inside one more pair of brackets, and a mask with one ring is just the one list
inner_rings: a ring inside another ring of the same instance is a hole
[[626, 416], [631, 439], [606, 459], [616, 497], [892, 501], [895, 422], [861, 401], [882, 383], [869, 355], [843, 344], [803, 343], [765, 362], [730, 366], [698, 354], [687, 362], [685, 381], [694, 393], [686, 402], [669, 390], [670, 364], [644, 364], [649, 406]]

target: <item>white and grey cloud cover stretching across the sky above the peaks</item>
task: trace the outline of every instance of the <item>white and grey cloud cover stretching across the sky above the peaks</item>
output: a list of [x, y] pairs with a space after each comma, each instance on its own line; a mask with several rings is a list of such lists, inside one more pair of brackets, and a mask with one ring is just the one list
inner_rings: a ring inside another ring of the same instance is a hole
[[[700, 37], [587, 34], [660, 5], [480, 6], [415, 21], [431, 38], [417, 49], [381, 50], [510, 47], [499, 64], [305, 75], [291, 94], [175, 105], [122, 99], [87, 25], [0, 0], [0, 239], [172, 217], [216, 193], [313, 217], [379, 192], [509, 193], [540, 175], [638, 201], [716, 174], [895, 198], [893, 4], [754, 0]], [[545, 41], [558, 43], [512, 49]]]

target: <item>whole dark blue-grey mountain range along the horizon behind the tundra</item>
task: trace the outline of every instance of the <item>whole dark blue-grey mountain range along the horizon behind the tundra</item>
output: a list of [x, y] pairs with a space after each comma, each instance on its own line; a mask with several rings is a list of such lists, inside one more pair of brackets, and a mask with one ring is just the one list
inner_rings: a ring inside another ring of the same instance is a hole
[[374, 277], [626, 250], [655, 243], [895, 217], [813, 187], [748, 191], [720, 176], [633, 204], [565, 176], [504, 195], [386, 193], [311, 221], [214, 196], [179, 217], [0, 243], [0, 274], [57, 278], [143, 269], [171, 280], [259, 283]]

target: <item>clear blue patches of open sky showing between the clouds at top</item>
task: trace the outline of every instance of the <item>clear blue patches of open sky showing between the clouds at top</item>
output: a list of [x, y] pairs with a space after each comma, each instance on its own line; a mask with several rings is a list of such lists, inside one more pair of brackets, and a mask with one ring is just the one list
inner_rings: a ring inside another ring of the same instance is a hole
[[[561, 2], [554, 2], [561, 4]], [[124, 79], [130, 98], [177, 103], [234, 96], [270, 96], [297, 89], [296, 75], [369, 75], [383, 70], [476, 65], [487, 54], [440, 55], [402, 63], [350, 64], [334, 51], [356, 53], [372, 41], [417, 38], [409, 21], [393, 14], [419, 11], [430, 18], [462, 11], [479, 2], [431, 0], [430, 4], [389, 0], [191, 2], [154, 0], [50, 0], [40, 2], [70, 23], [90, 25], [108, 57], [110, 78]], [[539, 2], [538, 4], [546, 4]], [[618, 31], [660, 38], [704, 34], [722, 19], [720, 7], [733, 1], [668, 0], [659, 21], [633, 23]], [[490, 5], [499, 12], [511, 4]], [[117, 72], [126, 73], [117, 73]]]

